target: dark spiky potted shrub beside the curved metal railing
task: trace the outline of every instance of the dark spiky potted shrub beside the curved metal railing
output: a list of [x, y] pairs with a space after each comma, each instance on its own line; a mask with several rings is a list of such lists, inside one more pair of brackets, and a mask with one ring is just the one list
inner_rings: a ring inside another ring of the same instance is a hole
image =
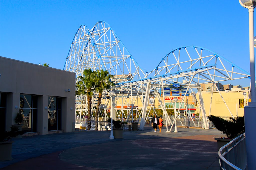
[[215, 128], [220, 132], [225, 134], [227, 137], [214, 138], [217, 140], [218, 150], [226, 145], [228, 142], [245, 132], [244, 129], [244, 116], [238, 116], [237, 118], [230, 119], [232, 121], [227, 121], [221, 117], [209, 115], [207, 118], [214, 124]]

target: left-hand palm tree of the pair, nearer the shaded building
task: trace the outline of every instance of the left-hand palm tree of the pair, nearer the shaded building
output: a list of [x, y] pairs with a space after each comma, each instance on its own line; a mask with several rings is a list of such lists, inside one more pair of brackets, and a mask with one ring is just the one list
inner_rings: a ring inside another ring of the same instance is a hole
[[91, 130], [91, 97], [95, 88], [94, 82], [95, 72], [90, 68], [83, 71], [83, 76], [77, 77], [76, 95], [86, 95], [88, 103], [88, 120], [87, 129]]

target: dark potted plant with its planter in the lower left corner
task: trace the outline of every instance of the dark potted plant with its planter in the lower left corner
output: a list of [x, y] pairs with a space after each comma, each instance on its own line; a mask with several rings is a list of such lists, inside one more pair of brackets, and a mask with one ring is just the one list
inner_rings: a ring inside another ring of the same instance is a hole
[[23, 132], [19, 131], [17, 127], [11, 127], [9, 132], [0, 132], [0, 161], [12, 160], [12, 138], [22, 135]]

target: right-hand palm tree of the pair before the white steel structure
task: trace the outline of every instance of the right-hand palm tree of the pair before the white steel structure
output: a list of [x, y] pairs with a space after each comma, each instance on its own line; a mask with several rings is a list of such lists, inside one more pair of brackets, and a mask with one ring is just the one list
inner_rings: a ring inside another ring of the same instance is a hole
[[99, 118], [99, 109], [101, 104], [102, 92], [105, 89], [110, 89], [110, 87], [114, 87], [115, 84], [111, 82], [111, 78], [114, 76], [109, 74], [108, 70], [97, 70], [95, 71], [95, 90], [99, 93], [97, 109], [95, 113], [95, 130], [98, 130], [98, 118]]

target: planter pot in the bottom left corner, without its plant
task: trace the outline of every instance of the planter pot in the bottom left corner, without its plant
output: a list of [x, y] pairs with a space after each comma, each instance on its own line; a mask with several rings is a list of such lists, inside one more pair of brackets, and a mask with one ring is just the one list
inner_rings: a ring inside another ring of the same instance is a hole
[[13, 141], [0, 142], [0, 161], [12, 160]]

